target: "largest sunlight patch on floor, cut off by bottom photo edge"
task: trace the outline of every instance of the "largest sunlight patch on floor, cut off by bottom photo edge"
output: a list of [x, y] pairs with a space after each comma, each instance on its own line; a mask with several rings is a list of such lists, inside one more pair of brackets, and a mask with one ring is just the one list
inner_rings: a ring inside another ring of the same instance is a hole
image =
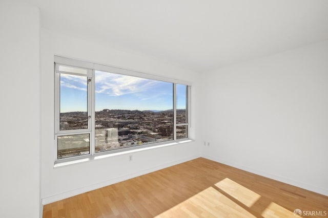
[[241, 206], [209, 187], [156, 217], [255, 217]]

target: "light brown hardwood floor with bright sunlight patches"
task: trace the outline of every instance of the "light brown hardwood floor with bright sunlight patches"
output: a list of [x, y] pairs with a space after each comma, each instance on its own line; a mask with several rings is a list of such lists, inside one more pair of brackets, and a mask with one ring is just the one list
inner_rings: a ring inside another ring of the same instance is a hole
[[43, 217], [296, 217], [295, 209], [328, 217], [328, 197], [198, 158], [45, 205]]

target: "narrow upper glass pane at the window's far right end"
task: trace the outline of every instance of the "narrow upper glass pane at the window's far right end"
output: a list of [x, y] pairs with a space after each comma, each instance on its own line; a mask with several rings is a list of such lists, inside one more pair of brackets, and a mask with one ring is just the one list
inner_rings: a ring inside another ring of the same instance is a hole
[[176, 84], [176, 123], [188, 123], [187, 85]]

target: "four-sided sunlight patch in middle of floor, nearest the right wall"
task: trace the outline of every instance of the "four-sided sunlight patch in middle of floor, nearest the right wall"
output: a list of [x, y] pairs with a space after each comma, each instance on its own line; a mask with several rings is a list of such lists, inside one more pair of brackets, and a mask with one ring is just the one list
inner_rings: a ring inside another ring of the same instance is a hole
[[216, 183], [215, 186], [248, 207], [252, 207], [261, 198], [261, 195], [228, 178]]

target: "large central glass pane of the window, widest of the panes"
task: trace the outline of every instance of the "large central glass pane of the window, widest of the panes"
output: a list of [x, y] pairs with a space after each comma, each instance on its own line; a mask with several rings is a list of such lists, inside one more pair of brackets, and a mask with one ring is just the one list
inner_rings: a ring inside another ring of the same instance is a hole
[[173, 83], [95, 72], [95, 151], [173, 140]]

